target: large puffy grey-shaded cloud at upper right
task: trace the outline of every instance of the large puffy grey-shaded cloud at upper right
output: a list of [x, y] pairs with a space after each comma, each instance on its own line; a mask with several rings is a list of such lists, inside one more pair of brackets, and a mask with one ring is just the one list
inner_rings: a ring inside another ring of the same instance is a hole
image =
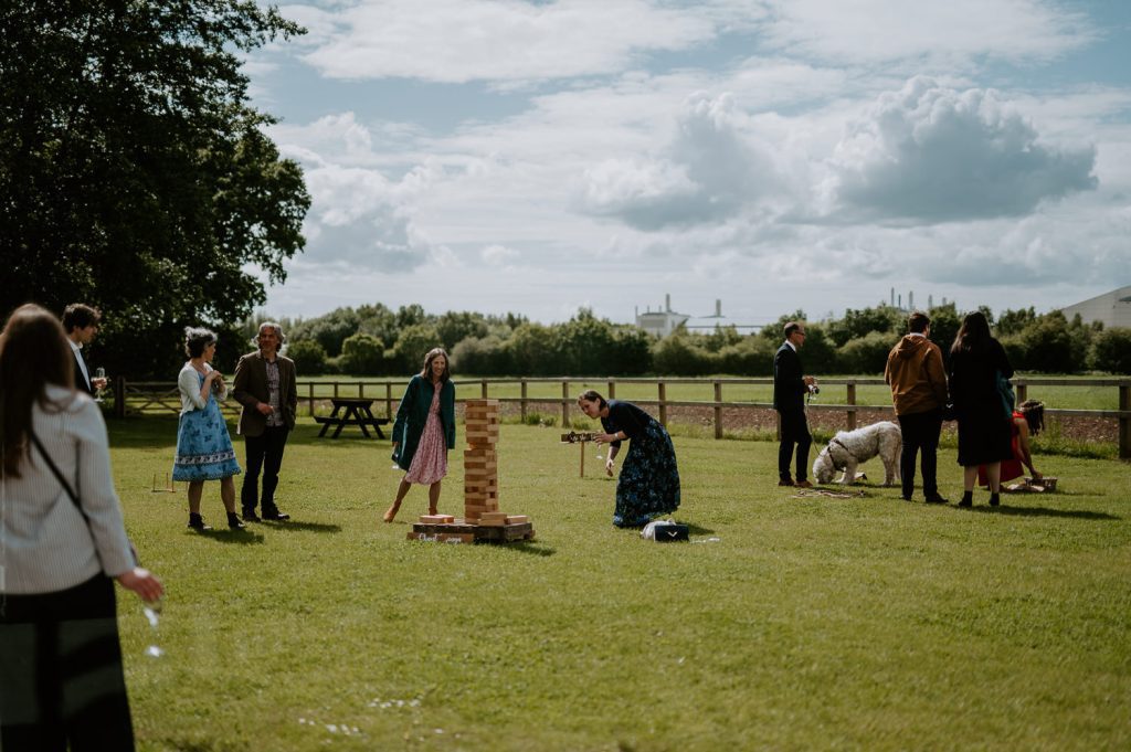
[[832, 188], [863, 218], [1017, 216], [1097, 184], [1095, 147], [1045, 144], [993, 90], [916, 77], [883, 94], [837, 146]]

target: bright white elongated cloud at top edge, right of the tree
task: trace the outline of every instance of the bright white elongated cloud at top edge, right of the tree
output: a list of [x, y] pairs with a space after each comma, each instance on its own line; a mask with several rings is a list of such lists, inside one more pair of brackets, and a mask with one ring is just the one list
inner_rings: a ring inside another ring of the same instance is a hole
[[709, 40], [708, 17], [644, 0], [372, 0], [319, 12], [305, 61], [330, 78], [526, 81], [603, 76], [640, 51], [683, 50]]

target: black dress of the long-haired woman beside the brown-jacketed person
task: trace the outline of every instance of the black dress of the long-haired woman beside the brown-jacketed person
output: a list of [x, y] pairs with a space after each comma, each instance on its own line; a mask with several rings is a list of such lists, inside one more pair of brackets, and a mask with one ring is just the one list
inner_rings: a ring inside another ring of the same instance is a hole
[[988, 465], [1010, 459], [1010, 413], [998, 391], [998, 377], [1009, 379], [1013, 366], [996, 339], [983, 352], [950, 355], [950, 399], [958, 416], [958, 464]]

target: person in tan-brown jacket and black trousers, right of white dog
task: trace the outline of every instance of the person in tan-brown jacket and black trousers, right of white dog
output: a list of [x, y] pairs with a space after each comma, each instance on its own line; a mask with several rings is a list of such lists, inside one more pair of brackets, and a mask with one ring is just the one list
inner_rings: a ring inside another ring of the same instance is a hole
[[904, 501], [915, 490], [915, 455], [923, 451], [923, 496], [929, 504], [944, 504], [935, 477], [942, 408], [947, 404], [947, 373], [942, 351], [930, 340], [931, 319], [915, 311], [907, 319], [907, 334], [888, 353], [883, 380], [891, 387], [891, 401], [899, 420], [904, 449], [899, 457]]

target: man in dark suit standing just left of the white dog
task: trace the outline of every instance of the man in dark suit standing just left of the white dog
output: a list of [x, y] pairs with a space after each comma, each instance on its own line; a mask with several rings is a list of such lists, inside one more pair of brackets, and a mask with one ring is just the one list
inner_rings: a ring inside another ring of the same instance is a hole
[[[813, 377], [803, 375], [797, 349], [805, 343], [805, 325], [791, 321], [785, 325], [785, 342], [774, 355], [774, 409], [782, 417], [782, 442], [778, 446], [778, 485], [811, 489], [809, 475], [809, 447], [813, 436], [805, 421], [805, 395], [817, 383]], [[797, 447], [797, 481], [789, 477], [789, 460]]]

